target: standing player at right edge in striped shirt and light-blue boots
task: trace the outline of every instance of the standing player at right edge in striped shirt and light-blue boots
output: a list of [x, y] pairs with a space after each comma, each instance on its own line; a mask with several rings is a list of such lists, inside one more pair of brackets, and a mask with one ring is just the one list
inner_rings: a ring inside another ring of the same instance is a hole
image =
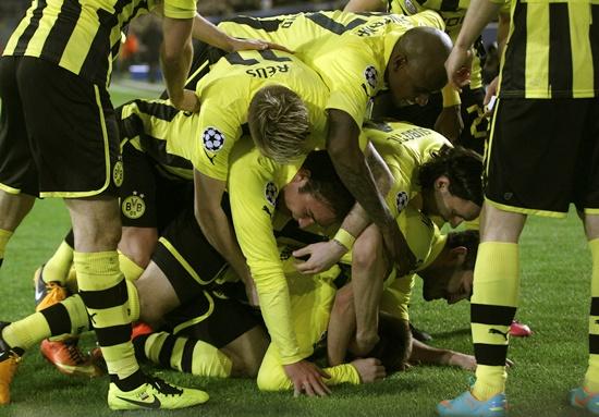
[[[489, 0], [472, 2], [445, 64], [457, 87], [467, 82], [464, 69], [473, 41], [499, 8]], [[527, 214], [563, 217], [575, 203], [584, 211], [592, 257], [590, 355], [584, 381], [569, 400], [599, 414], [599, 5], [513, 1], [511, 12], [474, 273], [470, 320], [477, 378], [470, 390], [440, 403], [437, 410], [443, 416], [506, 414], [505, 334], [518, 302], [519, 235]]]

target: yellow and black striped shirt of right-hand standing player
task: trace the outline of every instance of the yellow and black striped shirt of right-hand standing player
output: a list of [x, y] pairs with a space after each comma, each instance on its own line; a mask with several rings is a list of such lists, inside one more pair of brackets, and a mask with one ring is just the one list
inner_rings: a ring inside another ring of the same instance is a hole
[[599, 1], [513, 0], [500, 83], [502, 98], [598, 97]]

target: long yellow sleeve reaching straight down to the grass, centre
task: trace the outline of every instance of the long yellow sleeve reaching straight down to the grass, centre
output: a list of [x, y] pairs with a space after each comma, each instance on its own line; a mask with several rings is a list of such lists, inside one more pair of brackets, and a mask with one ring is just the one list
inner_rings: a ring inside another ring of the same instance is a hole
[[[256, 152], [256, 151], [255, 151]], [[291, 302], [283, 265], [272, 232], [278, 185], [242, 159], [232, 167], [229, 196], [235, 234], [256, 283], [260, 309], [282, 365], [302, 359], [293, 331]]]

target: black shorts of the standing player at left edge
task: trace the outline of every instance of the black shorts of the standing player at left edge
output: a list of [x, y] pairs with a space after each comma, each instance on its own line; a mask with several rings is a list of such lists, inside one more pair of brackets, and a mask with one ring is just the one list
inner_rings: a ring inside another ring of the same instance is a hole
[[37, 58], [0, 58], [0, 189], [41, 197], [118, 195], [123, 181], [105, 86]]

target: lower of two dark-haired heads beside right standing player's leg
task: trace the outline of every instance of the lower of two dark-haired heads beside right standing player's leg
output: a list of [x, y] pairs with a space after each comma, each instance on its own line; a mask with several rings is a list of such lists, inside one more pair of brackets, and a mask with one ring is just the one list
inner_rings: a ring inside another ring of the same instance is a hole
[[423, 297], [427, 302], [444, 298], [448, 304], [454, 304], [470, 297], [478, 243], [478, 231], [448, 235], [437, 258], [418, 272], [424, 281]]

